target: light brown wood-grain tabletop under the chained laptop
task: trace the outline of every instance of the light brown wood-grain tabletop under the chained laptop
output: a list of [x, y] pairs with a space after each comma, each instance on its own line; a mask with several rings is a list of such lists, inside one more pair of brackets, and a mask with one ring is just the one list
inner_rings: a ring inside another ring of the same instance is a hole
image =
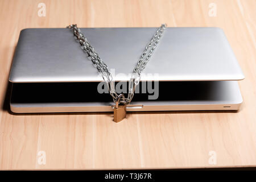
[[[46, 16], [40, 2], [46, 5]], [[256, 166], [255, 7], [254, 0], [1, 0], [0, 169]], [[161, 23], [221, 27], [246, 77], [239, 81], [242, 107], [238, 112], [129, 113], [120, 123], [114, 123], [108, 113], [9, 113], [8, 76], [20, 30], [71, 23], [79, 27], [158, 27]]]

